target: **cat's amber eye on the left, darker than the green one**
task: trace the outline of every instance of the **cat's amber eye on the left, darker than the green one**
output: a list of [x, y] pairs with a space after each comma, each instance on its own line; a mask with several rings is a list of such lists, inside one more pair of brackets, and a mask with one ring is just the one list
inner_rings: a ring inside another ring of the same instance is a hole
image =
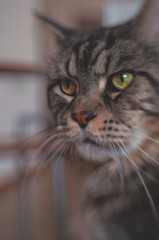
[[76, 94], [77, 85], [70, 79], [64, 79], [60, 83], [60, 88], [66, 95], [74, 96]]

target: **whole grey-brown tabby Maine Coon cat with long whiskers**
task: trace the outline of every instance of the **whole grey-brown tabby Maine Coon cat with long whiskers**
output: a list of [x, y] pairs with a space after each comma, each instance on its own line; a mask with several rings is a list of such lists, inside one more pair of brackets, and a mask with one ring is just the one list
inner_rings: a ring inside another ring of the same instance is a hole
[[58, 46], [47, 66], [56, 153], [94, 165], [82, 239], [159, 239], [159, 3], [143, 10], [87, 32], [39, 16]]

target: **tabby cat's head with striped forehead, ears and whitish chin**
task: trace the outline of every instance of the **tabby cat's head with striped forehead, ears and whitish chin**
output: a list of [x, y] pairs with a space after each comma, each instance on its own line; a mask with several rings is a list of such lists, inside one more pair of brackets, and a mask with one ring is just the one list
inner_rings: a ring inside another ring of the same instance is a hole
[[150, 13], [87, 32], [41, 16], [58, 43], [47, 69], [55, 129], [84, 159], [141, 154], [159, 137], [159, 47]]

